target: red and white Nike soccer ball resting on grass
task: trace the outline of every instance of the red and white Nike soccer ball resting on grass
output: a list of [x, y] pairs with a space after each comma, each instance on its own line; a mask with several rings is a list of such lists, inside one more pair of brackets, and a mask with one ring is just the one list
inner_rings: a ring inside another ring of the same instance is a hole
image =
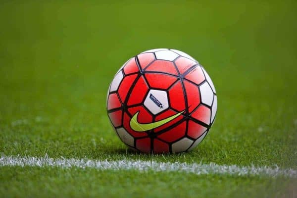
[[123, 143], [143, 152], [182, 152], [206, 136], [217, 96], [204, 68], [176, 49], [151, 49], [129, 59], [107, 93], [107, 113]]

